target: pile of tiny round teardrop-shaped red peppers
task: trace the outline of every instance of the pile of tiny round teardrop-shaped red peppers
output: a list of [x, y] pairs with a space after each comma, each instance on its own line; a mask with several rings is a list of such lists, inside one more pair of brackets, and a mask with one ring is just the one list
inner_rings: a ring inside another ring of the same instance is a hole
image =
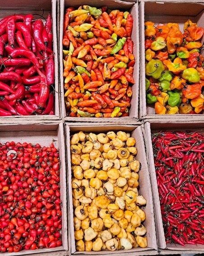
[[0, 143], [0, 252], [61, 246], [59, 152]]

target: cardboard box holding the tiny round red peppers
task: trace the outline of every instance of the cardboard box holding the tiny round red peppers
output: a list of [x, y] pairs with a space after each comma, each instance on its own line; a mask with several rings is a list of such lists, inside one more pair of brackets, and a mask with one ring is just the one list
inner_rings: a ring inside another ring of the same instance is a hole
[[[37, 250], [23, 250], [19, 252], [5, 253], [7, 256], [21, 256], [40, 253], [42, 256], [65, 256], [68, 255], [68, 238], [67, 238], [67, 197], [66, 197], [66, 165], [65, 165], [65, 143], [63, 133], [63, 123], [52, 124], [10, 124], [0, 125], [0, 142], [31, 142], [39, 143], [41, 146], [49, 146], [54, 139], [54, 145], [59, 149], [60, 154], [60, 199], [62, 211], [62, 246], [55, 248], [43, 248]], [[54, 254], [51, 252], [54, 251]], [[57, 251], [57, 252], [56, 252]], [[44, 254], [45, 253], [45, 254]], [[39, 254], [37, 254], [39, 255]]]

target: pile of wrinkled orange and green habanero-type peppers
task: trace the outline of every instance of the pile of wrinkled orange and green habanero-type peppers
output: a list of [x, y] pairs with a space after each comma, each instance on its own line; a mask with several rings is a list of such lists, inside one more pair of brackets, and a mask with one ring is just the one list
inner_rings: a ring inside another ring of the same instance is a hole
[[200, 42], [204, 28], [189, 19], [184, 33], [177, 23], [145, 22], [146, 99], [156, 114], [198, 114], [204, 110], [204, 68]]

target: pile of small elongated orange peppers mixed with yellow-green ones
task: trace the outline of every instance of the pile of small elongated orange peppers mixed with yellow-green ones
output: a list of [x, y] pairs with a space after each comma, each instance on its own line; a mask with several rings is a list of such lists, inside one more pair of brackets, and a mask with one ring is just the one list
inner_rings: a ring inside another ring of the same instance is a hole
[[66, 9], [62, 43], [67, 116], [129, 116], [132, 27], [128, 11], [88, 5]]

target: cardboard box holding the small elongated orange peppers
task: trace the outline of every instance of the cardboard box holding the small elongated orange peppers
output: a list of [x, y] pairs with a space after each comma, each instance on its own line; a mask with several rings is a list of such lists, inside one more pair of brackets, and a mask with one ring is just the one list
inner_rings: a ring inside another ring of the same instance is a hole
[[125, 124], [134, 124], [138, 119], [138, 105], [139, 105], [139, 14], [138, 14], [138, 3], [134, 2], [124, 2], [120, 0], [90, 0], [86, 1], [86, 5], [91, 5], [95, 7], [107, 6], [108, 9], [120, 9], [120, 10], [130, 10], [130, 13], [133, 15], [133, 32], [132, 40], [134, 42], [134, 56], [135, 56], [135, 65], [134, 65], [134, 81], [135, 84], [132, 87], [133, 96], [131, 99], [131, 108], [130, 116], [122, 118], [95, 118], [95, 117], [67, 117], [65, 111], [65, 101], [64, 101], [64, 78], [63, 78], [63, 52], [62, 52], [62, 39], [63, 39], [63, 24], [64, 24], [64, 13], [65, 9], [68, 7], [79, 8], [80, 5], [83, 5], [83, 0], [76, 0], [70, 2], [69, 0], [60, 0], [60, 87], [61, 87], [61, 107], [62, 107], [62, 117], [65, 121], [76, 121], [76, 122], [114, 122], [114, 123], [125, 123]]

